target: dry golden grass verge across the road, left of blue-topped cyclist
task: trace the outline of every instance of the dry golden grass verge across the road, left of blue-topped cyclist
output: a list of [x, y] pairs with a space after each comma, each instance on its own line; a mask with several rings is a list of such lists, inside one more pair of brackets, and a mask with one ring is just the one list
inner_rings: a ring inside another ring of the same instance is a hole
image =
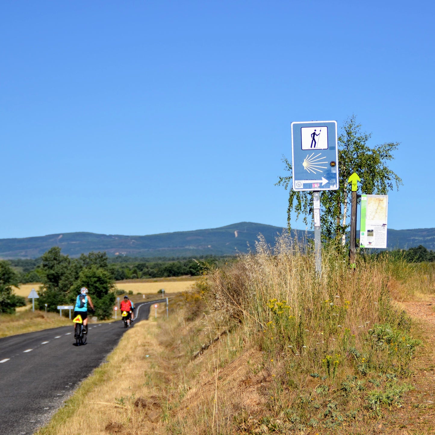
[[60, 317], [59, 314], [45, 313], [44, 311], [33, 312], [27, 308], [27, 311], [21, 311], [17, 314], [0, 316], [0, 338], [70, 325], [72, 325], [70, 319]]

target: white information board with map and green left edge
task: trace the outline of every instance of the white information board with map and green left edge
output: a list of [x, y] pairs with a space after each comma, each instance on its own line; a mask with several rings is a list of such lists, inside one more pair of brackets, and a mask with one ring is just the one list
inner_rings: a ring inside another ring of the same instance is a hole
[[361, 195], [361, 248], [387, 247], [388, 195]]

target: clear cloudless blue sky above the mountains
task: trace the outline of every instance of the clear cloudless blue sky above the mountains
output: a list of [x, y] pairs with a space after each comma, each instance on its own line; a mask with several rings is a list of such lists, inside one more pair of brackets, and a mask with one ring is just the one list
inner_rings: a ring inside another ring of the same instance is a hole
[[434, 12], [3, 0], [0, 238], [285, 226], [291, 122], [352, 113], [401, 142], [389, 228], [435, 227]]

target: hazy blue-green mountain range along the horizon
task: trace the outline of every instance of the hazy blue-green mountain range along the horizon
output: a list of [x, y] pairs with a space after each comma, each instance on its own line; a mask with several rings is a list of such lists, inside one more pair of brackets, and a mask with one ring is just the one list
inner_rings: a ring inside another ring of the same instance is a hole
[[[130, 257], [189, 257], [207, 254], [231, 255], [254, 248], [258, 235], [263, 234], [269, 244], [283, 228], [272, 225], [239, 222], [220, 228], [178, 231], [145, 236], [106, 235], [94, 233], [64, 233], [48, 236], [0, 239], [0, 258], [37, 258], [53, 246], [63, 254], [77, 257], [90, 251], [106, 251], [107, 255]], [[312, 231], [292, 230], [303, 240]], [[422, 244], [435, 250], [435, 228], [388, 230], [388, 249], [408, 249]]]

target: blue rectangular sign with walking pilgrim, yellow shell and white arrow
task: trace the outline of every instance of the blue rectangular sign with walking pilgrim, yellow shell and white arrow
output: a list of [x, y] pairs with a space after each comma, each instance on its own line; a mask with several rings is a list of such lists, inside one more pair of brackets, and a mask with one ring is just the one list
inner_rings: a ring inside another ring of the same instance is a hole
[[291, 164], [293, 190], [337, 190], [337, 121], [292, 122]]

